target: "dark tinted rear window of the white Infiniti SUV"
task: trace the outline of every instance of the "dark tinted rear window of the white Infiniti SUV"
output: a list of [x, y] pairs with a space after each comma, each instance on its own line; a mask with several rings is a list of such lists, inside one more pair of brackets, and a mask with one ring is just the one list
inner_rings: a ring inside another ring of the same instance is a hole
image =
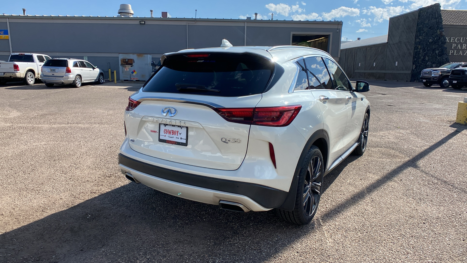
[[261, 94], [274, 68], [269, 59], [250, 54], [172, 55], [143, 91], [226, 97]]

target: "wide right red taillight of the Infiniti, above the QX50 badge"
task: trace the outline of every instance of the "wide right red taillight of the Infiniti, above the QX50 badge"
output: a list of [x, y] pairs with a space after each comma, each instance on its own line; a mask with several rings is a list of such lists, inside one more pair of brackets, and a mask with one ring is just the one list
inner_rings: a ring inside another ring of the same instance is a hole
[[261, 126], [283, 127], [289, 125], [302, 105], [257, 108], [215, 108], [226, 121]]

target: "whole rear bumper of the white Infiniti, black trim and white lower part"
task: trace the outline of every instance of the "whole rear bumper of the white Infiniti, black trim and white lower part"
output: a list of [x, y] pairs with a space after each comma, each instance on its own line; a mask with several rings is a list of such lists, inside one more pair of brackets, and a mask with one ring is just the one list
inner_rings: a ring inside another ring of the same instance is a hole
[[[123, 144], [128, 144], [127, 140]], [[122, 151], [123, 148], [127, 151]], [[267, 211], [283, 205], [288, 195], [288, 192], [283, 190], [256, 183], [219, 179], [163, 168], [132, 158], [137, 158], [132, 156], [132, 152], [129, 146], [122, 146], [120, 149], [121, 172], [129, 173], [137, 181], [173, 196], [212, 205], [219, 205], [220, 200], [225, 200], [245, 205], [251, 211]]]

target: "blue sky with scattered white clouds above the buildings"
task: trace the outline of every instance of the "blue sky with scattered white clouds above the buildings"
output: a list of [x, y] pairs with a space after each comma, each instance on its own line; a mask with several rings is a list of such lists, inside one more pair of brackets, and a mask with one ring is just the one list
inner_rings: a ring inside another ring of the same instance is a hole
[[258, 18], [279, 20], [341, 20], [342, 40], [355, 40], [386, 35], [389, 17], [439, 2], [443, 9], [467, 9], [467, 0], [2, 0], [0, 13], [28, 15], [115, 16], [121, 3], [131, 4], [135, 16], [155, 16], [162, 11], [172, 17], [245, 18], [258, 13]]

